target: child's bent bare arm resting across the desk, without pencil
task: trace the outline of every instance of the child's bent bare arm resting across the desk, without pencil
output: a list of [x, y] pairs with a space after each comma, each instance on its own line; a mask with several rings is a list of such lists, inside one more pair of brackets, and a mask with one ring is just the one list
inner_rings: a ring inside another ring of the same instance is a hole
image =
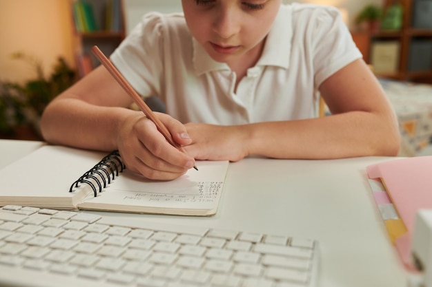
[[[197, 159], [395, 156], [400, 137], [393, 109], [364, 61], [333, 74], [320, 87], [332, 115], [230, 127], [188, 124]], [[277, 103], [275, 103], [277, 105]]]

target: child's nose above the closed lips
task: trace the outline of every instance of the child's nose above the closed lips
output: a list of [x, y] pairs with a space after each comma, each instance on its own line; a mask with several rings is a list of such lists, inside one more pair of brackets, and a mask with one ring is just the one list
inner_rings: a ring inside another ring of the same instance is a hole
[[229, 39], [240, 31], [239, 16], [233, 10], [221, 10], [215, 15], [213, 30], [222, 39]]

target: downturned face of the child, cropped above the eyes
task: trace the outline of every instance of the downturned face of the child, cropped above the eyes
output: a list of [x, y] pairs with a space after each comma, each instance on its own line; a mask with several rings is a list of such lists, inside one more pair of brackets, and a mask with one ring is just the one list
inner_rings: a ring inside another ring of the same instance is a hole
[[[282, 0], [181, 0], [190, 32], [218, 62], [257, 61]], [[253, 59], [246, 59], [252, 57]]]

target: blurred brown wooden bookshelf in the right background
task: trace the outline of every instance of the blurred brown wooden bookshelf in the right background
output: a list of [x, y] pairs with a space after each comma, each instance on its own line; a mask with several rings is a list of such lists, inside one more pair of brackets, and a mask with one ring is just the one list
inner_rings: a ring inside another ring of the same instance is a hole
[[[432, 5], [432, 0], [429, 1]], [[386, 0], [384, 8], [389, 7], [393, 1]], [[400, 0], [403, 8], [403, 21], [400, 30], [380, 30], [378, 32], [353, 31], [353, 40], [363, 53], [366, 63], [373, 67], [373, 51], [377, 44], [397, 45], [397, 51], [393, 49], [390, 54], [397, 53], [395, 59], [386, 61], [396, 61], [393, 63], [395, 70], [391, 72], [374, 71], [377, 76], [383, 78], [393, 78], [400, 81], [413, 81], [417, 83], [432, 83], [432, 27], [415, 28], [413, 25], [413, 15], [416, 0]], [[384, 45], [383, 45], [384, 46]], [[394, 48], [394, 46], [393, 46]], [[382, 47], [381, 47], [382, 50]], [[423, 56], [426, 54], [426, 57]], [[423, 61], [421, 63], [421, 61]], [[430, 63], [429, 63], [430, 61]], [[420, 63], [419, 63], [420, 62]]]

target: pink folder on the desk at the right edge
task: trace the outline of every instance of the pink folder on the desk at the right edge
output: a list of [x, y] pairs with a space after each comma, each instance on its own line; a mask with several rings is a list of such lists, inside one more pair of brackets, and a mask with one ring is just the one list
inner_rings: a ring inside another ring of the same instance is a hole
[[366, 167], [369, 178], [380, 178], [407, 233], [395, 246], [402, 262], [413, 269], [410, 247], [418, 209], [432, 209], [432, 156], [400, 158]]

